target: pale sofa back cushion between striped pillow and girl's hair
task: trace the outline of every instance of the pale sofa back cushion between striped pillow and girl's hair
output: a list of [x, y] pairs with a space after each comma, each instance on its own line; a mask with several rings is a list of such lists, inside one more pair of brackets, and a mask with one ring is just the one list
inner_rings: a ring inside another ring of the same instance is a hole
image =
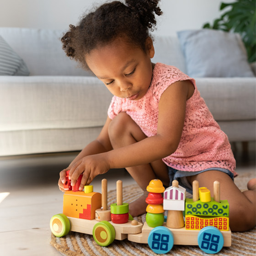
[[92, 75], [62, 49], [59, 29], [0, 27], [0, 35], [27, 64], [30, 75]]

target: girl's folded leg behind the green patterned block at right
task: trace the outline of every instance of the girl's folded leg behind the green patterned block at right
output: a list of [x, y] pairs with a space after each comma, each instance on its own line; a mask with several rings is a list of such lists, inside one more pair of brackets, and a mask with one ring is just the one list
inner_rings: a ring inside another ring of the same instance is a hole
[[220, 199], [229, 202], [229, 226], [232, 231], [247, 231], [256, 225], [256, 180], [248, 183], [250, 190], [240, 192], [232, 179], [222, 171], [205, 171], [187, 177], [192, 184], [199, 182], [199, 187], [207, 187], [213, 197], [213, 182], [220, 182]]

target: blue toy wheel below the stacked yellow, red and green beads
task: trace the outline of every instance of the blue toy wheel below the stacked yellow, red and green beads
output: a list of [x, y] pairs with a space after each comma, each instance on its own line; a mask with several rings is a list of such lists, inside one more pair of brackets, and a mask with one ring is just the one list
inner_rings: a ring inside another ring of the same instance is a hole
[[152, 251], [164, 254], [171, 251], [174, 238], [170, 229], [166, 227], [156, 227], [149, 233], [148, 244]]

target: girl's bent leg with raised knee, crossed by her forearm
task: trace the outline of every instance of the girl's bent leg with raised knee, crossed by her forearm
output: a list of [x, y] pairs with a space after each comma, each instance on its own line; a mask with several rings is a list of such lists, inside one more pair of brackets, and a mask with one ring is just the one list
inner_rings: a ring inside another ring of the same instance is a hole
[[[111, 121], [108, 134], [113, 149], [128, 146], [147, 138], [139, 126], [125, 112], [119, 113]], [[157, 178], [165, 186], [169, 186], [168, 170], [161, 159], [146, 165], [128, 167], [126, 170], [144, 191], [141, 197], [129, 204], [129, 212], [135, 217], [146, 212], [147, 203], [145, 199], [148, 195], [146, 187], [151, 180]]]

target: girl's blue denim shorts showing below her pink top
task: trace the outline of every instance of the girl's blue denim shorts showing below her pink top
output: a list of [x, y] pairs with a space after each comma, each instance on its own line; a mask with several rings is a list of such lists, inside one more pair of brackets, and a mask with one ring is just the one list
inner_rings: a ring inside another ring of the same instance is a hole
[[230, 178], [234, 181], [234, 174], [231, 171], [229, 171], [227, 169], [223, 169], [223, 168], [208, 168], [203, 171], [179, 171], [170, 166], [167, 166], [167, 167], [168, 167], [168, 173], [169, 173], [169, 178], [170, 178], [170, 186], [172, 186], [173, 180], [177, 180], [177, 181], [179, 181], [179, 185], [181, 187], [186, 188], [186, 191], [191, 194], [192, 194], [192, 186], [188, 183], [187, 176], [197, 175], [204, 171], [222, 171], [222, 172], [228, 174], [230, 176]]

